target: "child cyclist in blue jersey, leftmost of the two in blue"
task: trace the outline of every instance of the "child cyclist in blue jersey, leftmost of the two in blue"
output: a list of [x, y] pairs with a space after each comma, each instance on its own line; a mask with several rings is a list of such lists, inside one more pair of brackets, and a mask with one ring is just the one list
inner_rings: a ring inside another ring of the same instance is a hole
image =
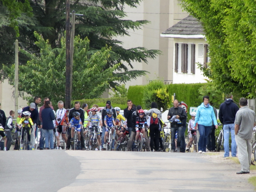
[[74, 132], [75, 129], [77, 131], [77, 139], [78, 139], [78, 147], [79, 149], [81, 148], [81, 141], [80, 141], [80, 132], [81, 132], [81, 125], [82, 125], [82, 120], [80, 118], [80, 113], [79, 112], [74, 112], [73, 113], [73, 118], [70, 120], [70, 125], [71, 125], [71, 139], [70, 141], [74, 141]]

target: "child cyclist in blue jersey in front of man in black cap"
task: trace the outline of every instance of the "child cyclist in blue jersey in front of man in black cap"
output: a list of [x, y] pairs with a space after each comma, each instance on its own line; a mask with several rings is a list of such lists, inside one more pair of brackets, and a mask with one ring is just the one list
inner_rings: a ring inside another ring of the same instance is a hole
[[114, 113], [112, 111], [112, 109], [107, 109], [106, 110], [107, 115], [104, 117], [104, 124], [106, 126], [106, 131], [105, 131], [105, 135], [104, 135], [104, 144], [103, 144], [103, 148], [106, 148], [106, 141], [107, 141], [107, 136], [108, 136], [108, 129], [111, 127], [111, 132], [112, 132], [112, 139], [114, 140], [114, 126], [116, 126], [115, 123], [115, 119], [113, 117]]

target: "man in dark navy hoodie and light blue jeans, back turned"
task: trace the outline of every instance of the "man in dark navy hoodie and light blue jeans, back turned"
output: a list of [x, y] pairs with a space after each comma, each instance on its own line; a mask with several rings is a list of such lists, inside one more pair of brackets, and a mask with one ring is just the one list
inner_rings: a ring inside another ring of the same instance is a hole
[[224, 157], [229, 156], [229, 133], [231, 133], [231, 156], [236, 156], [236, 140], [235, 140], [235, 118], [238, 106], [233, 102], [233, 95], [227, 94], [224, 103], [220, 104], [219, 119], [223, 124], [224, 133]]

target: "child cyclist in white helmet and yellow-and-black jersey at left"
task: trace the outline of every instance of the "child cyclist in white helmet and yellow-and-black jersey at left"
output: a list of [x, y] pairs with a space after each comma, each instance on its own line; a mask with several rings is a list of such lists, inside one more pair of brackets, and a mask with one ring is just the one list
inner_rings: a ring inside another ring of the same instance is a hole
[[[23, 111], [22, 112], [22, 115], [24, 117], [22, 117], [20, 119], [20, 122], [18, 124], [18, 127], [20, 128], [20, 126], [22, 126], [22, 129], [21, 129], [21, 141], [20, 141], [20, 149], [21, 150], [24, 150], [23, 146], [23, 139], [24, 139], [24, 132], [26, 131], [27, 132], [27, 136], [28, 136], [28, 142], [29, 142], [29, 148], [32, 148], [32, 143], [30, 141], [30, 128], [33, 129], [33, 121], [32, 119], [30, 118], [30, 115], [31, 113], [29, 111]], [[33, 149], [32, 149], [33, 150]]]

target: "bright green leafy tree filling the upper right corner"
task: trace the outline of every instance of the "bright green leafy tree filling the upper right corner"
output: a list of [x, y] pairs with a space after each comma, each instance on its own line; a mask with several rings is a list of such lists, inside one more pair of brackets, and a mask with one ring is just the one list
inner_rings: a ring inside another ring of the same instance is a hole
[[186, 11], [201, 21], [209, 43], [210, 71], [223, 92], [256, 97], [256, 2], [253, 0], [182, 0]]

